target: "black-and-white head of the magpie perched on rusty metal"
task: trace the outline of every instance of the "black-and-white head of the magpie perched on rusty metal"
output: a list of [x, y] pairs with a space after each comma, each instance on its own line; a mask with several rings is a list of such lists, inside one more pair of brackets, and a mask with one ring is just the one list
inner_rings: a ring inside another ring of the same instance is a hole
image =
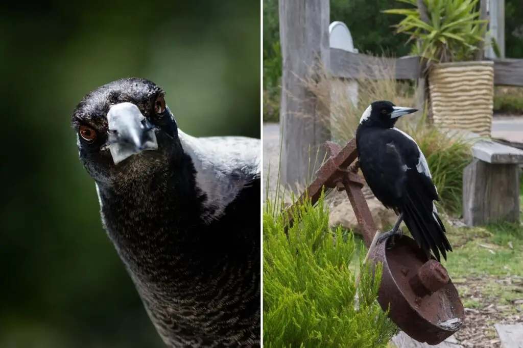
[[412, 107], [396, 106], [388, 100], [372, 102], [363, 112], [360, 125], [392, 128], [400, 116], [418, 111]]

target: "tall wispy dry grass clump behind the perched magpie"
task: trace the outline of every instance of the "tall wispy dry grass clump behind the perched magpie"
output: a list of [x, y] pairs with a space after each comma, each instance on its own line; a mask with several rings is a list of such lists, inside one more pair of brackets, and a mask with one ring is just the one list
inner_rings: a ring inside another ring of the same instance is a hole
[[[395, 105], [421, 109], [417, 105], [419, 98], [415, 88], [394, 79], [395, 66], [390, 64], [390, 60], [376, 57], [374, 63], [372, 68], [360, 69], [356, 100], [347, 81], [329, 76], [326, 70], [322, 71], [321, 79], [304, 81], [320, 102], [329, 105], [330, 117], [324, 121], [340, 144], [354, 137], [362, 113], [373, 101], [389, 100]], [[400, 118], [396, 127], [411, 135], [425, 154], [440, 195], [439, 206], [447, 213], [459, 214], [462, 173], [472, 160], [470, 139], [429, 126], [424, 110]]]

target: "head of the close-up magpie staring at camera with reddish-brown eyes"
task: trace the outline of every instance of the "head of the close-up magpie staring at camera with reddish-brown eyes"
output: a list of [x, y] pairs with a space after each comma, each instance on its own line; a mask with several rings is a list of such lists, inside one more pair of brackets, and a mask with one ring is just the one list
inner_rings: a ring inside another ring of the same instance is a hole
[[126, 78], [87, 94], [73, 111], [80, 160], [101, 183], [162, 170], [179, 144], [176, 122], [153, 82]]

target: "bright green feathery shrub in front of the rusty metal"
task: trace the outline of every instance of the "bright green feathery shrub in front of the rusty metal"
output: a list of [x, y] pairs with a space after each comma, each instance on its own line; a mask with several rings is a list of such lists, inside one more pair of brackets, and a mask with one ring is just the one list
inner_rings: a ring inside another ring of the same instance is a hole
[[[362, 265], [355, 289], [356, 250], [351, 233], [332, 231], [323, 195], [315, 207], [306, 201], [284, 231], [285, 217], [271, 202], [263, 216], [264, 346], [380, 348], [397, 332], [376, 301], [382, 265], [374, 279]], [[364, 254], [364, 253], [361, 253]], [[359, 308], [355, 308], [355, 296]]]

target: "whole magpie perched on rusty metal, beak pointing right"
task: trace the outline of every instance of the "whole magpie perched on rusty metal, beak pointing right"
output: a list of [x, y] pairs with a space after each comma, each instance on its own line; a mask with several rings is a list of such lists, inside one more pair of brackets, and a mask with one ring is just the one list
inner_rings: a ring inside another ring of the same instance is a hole
[[416, 111], [390, 101], [371, 103], [356, 129], [358, 162], [374, 196], [398, 216], [392, 230], [381, 234], [378, 243], [391, 237], [392, 247], [395, 236], [402, 236], [399, 227], [403, 221], [427, 258], [432, 251], [440, 261], [440, 253], [447, 259], [452, 247], [434, 204], [439, 200], [438, 191], [419, 146], [394, 127], [400, 116]]

